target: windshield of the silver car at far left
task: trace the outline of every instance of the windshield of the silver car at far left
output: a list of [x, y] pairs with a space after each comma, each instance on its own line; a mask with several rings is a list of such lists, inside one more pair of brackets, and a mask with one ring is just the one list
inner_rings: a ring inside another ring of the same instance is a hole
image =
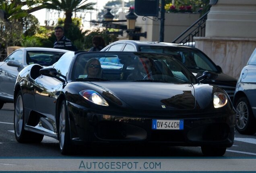
[[57, 62], [65, 52], [27, 51], [27, 64], [50, 66]]

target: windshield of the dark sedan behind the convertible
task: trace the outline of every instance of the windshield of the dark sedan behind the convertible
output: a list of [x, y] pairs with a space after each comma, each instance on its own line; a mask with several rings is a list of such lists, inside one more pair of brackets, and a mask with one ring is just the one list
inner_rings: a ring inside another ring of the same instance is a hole
[[140, 51], [170, 54], [191, 71], [198, 69], [218, 72], [215, 64], [199, 50], [170, 46], [140, 46]]

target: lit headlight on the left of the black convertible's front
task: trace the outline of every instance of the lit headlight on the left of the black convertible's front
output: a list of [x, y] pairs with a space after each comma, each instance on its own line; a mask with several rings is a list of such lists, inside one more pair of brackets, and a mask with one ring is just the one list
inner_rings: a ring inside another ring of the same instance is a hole
[[86, 100], [95, 103], [96, 105], [101, 105], [101, 106], [108, 106], [107, 101], [96, 91], [93, 90], [83, 90], [80, 91], [79, 94], [83, 96]]

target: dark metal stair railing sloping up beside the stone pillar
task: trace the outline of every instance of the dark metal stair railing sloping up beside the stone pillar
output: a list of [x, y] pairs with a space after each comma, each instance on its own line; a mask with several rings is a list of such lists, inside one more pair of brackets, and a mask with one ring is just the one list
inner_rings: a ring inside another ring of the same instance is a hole
[[205, 36], [205, 26], [208, 13], [209, 11], [196, 20], [196, 22], [182, 32], [180, 36], [175, 38], [172, 43], [194, 45], [193, 42], [195, 36]]

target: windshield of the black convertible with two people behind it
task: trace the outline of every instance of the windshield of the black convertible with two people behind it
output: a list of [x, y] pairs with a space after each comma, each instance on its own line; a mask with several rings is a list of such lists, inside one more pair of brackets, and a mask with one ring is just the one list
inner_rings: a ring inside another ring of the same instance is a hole
[[76, 81], [195, 83], [193, 74], [172, 56], [145, 52], [84, 52], [72, 68]]

